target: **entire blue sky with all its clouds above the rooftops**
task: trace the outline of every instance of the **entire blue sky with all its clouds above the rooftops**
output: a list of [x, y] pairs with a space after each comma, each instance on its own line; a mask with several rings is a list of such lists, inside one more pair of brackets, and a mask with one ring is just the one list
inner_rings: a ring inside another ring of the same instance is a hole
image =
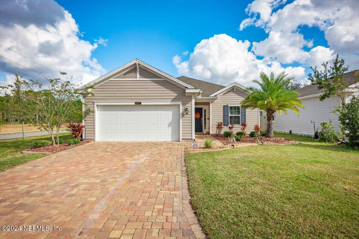
[[84, 84], [139, 58], [222, 85], [251, 85], [261, 71], [302, 81], [337, 53], [359, 68], [358, 12], [351, 0], [3, 0], [0, 80], [65, 71]]

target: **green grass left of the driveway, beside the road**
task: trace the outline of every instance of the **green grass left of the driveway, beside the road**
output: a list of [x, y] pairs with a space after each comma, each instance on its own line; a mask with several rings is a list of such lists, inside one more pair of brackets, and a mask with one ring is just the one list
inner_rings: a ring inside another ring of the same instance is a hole
[[[71, 134], [60, 134], [60, 139], [70, 139]], [[0, 172], [7, 168], [15, 167], [18, 164], [26, 163], [34, 159], [46, 156], [47, 154], [22, 154], [24, 149], [31, 148], [37, 140], [47, 140], [51, 143], [48, 135], [28, 137], [26, 139], [6, 139], [0, 141]]]

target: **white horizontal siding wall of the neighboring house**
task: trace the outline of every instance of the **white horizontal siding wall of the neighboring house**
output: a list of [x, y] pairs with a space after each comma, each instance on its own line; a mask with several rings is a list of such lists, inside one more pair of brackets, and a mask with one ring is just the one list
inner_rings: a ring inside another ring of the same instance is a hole
[[319, 100], [319, 97], [314, 97], [302, 99], [302, 103], [306, 109], [302, 109], [299, 116], [292, 110], [288, 111], [288, 115], [283, 113], [279, 116], [276, 113], [273, 130], [287, 133], [292, 130], [294, 134], [313, 135], [314, 125], [311, 120], [315, 122], [316, 128], [320, 128], [320, 123], [329, 122], [329, 119], [332, 119], [334, 129], [339, 132], [338, 117], [331, 112], [331, 108], [340, 104], [339, 97], [331, 96], [323, 102]]

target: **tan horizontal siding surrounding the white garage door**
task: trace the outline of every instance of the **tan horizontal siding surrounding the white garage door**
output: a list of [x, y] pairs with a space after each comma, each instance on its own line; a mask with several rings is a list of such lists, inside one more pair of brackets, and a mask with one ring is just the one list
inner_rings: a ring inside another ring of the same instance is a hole
[[[94, 96], [84, 96], [87, 108], [94, 110], [94, 102], [182, 102], [182, 139], [192, 139], [191, 96], [185, 89], [167, 80], [110, 80], [92, 90]], [[185, 108], [188, 108], [188, 115]], [[94, 140], [94, 114], [85, 118], [86, 139]]]

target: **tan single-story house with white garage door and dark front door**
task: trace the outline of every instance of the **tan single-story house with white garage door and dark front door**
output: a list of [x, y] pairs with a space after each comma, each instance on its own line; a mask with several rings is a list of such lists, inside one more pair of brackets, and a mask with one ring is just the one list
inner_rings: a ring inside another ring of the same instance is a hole
[[[247, 131], [259, 122], [258, 110], [242, 109], [246, 97], [238, 83], [216, 85], [190, 77], [172, 77], [139, 59], [107, 73], [84, 87], [90, 111], [83, 137], [94, 141], [181, 141], [216, 133], [216, 122], [246, 121]], [[225, 129], [224, 129], [225, 130]]]

